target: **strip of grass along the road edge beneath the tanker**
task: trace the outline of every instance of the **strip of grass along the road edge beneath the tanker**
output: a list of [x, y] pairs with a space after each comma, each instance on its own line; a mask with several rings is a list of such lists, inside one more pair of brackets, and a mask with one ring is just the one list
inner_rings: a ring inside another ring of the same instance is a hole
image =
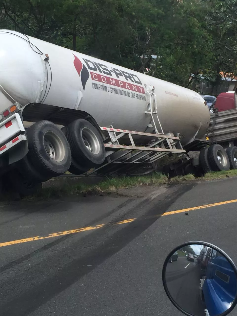
[[83, 182], [78, 181], [77, 184], [70, 185], [64, 183], [57, 187], [47, 187], [39, 192], [38, 197], [62, 197], [63, 195], [70, 194], [104, 194], [116, 192], [118, 189], [130, 188], [138, 185], [162, 185], [162, 184], [175, 184], [175, 183], [185, 183], [194, 180], [214, 180], [214, 179], [225, 179], [226, 177], [237, 176], [237, 170], [211, 172], [205, 174], [204, 177], [195, 178], [194, 175], [188, 174], [186, 176], [174, 177], [168, 179], [167, 176], [161, 173], [152, 173], [144, 176], [134, 176], [134, 177], [114, 177], [105, 178], [99, 184], [88, 185]]

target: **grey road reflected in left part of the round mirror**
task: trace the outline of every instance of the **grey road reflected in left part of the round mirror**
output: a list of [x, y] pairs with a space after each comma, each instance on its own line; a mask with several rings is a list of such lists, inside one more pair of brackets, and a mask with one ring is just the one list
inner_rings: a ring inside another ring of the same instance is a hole
[[178, 260], [167, 264], [166, 282], [173, 300], [187, 313], [208, 315], [199, 293], [200, 269], [197, 258], [188, 258], [185, 253], [178, 251]]

